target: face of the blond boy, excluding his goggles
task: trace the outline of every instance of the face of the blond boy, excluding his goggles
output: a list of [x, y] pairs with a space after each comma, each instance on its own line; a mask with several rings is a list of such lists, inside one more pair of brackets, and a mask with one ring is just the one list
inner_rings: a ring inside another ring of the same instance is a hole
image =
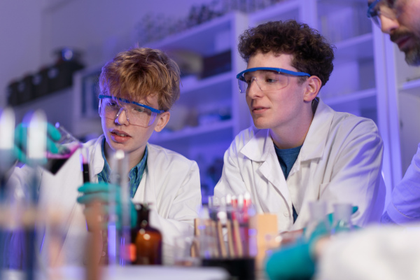
[[[156, 94], [149, 97], [148, 100], [135, 100], [138, 103], [146, 104], [158, 109], [158, 97]], [[102, 102], [104, 106], [104, 102]], [[104, 110], [104, 108], [102, 108]], [[160, 113], [156, 116], [152, 125], [139, 126], [132, 125], [127, 120], [126, 111], [122, 110], [118, 118], [105, 118], [102, 116], [102, 130], [104, 131], [106, 143], [113, 150], [123, 150], [125, 153], [141, 156], [146, 148], [146, 143], [151, 137], [153, 131], [160, 132], [169, 120], [169, 112]]]

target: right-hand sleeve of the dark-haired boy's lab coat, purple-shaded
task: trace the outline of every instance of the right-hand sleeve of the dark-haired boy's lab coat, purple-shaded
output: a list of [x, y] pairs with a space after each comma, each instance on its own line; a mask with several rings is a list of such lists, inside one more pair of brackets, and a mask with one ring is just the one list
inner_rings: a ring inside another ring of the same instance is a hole
[[[346, 125], [344, 125], [346, 127]], [[346, 127], [328, 186], [320, 194], [325, 202], [346, 202], [358, 207], [352, 223], [379, 222], [384, 211], [385, 185], [381, 177], [384, 145], [372, 120]]]

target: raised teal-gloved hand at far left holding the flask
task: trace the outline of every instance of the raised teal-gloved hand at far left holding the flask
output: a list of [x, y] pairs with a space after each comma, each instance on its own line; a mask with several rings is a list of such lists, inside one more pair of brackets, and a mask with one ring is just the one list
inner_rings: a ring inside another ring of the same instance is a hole
[[[20, 123], [15, 128], [15, 157], [22, 163], [27, 163], [26, 149], [27, 149], [27, 129], [25, 123]], [[61, 134], [50, 123], [47, 124], [47, 151], [50, 153], [58, 153], [57, 144], [54, 141], [58, 141], [61, 138]]]

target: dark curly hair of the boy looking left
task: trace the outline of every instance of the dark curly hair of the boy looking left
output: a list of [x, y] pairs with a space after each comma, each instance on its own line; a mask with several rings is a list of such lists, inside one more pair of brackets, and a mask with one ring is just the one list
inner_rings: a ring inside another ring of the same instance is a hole
[[[246, 62], [258, 51], [293, 55], [292, 66], [317, 76], [322, 85], [327, 83], [334, 68], [334, 48], [318, 31], [295, 20], [267, 22], [247, 29], [239, 36], [238, 45]], [[300, 83], [306, 78], [300, 77]]]

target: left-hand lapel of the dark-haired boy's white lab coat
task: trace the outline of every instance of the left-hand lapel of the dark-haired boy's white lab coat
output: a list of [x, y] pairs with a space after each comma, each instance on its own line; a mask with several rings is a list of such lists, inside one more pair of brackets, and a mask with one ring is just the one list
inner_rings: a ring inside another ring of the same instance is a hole
[[286, 179], [284, 179], [277, 159], [269, 130], [256, 130], [253, 138], [241, 149], [241, 153], [253, 162], [260, 163], [259, 166], [253, 168], [253, 171], [258, 170], [281, 193], [284, 199], [290, 202]]

